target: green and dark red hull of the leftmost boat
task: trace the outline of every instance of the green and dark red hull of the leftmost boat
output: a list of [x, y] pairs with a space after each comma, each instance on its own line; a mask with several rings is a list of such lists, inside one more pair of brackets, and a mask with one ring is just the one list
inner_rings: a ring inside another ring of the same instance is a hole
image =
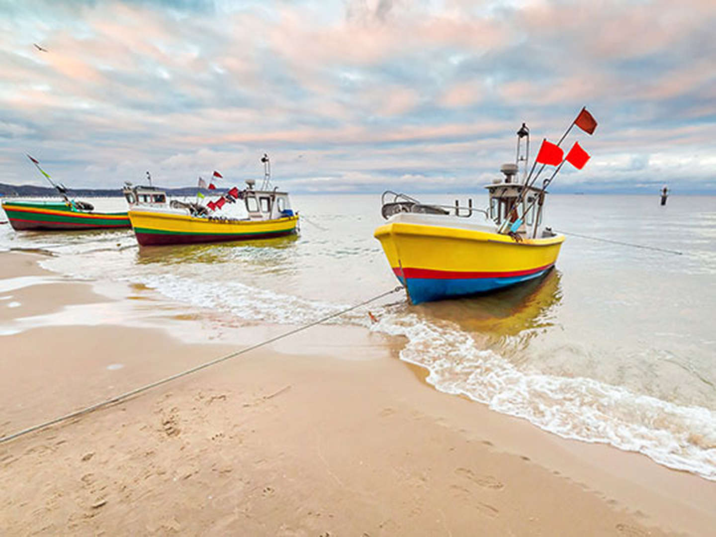
[[130, 227], [127, 213], [77, 211], [65, 203], [3, 201], [3, 211], [16, 231], [79, 231]]

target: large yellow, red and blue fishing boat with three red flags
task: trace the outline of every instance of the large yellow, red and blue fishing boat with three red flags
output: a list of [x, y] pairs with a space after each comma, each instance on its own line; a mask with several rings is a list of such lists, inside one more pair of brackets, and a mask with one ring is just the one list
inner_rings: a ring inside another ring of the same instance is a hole
[[[596, 121], [582, 109], [557, 144], [543, 140], [528, 173], [529, 129], [523, 124], [517, 132], [516, 161], [503, 165], [503, 177], [485, 186], [486, 210], [474, 208], [472, 200], [440, 205], [391, 190], [383, 193], [387, 222], [374, 236], [412, 304], [488, 293], [553, 268], [564, 236], [543, 226], [546, 187], [564, 162], [581, 168], [589, 159], [579, 144], [563, 158], [559, 145], [574, 125], [591, 134]], [[534, 173], [539, 163], [542, 168]], [[553, 174], [536, 186], [546, 165], [555, 166]]]

